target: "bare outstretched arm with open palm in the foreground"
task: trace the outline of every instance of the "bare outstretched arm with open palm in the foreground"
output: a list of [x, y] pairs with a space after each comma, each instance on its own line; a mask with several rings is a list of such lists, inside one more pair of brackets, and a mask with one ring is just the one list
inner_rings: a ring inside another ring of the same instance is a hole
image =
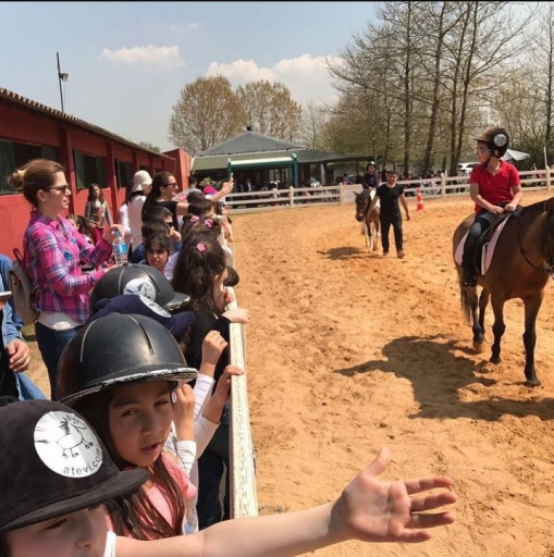
[[[426, 513], [456, 500], [445, 475], [382, 482], [390, 462], [382, 448], [334, 503], [295, 512], [219, 522], [185, 537], [156, 542], [118, 539], [118, 557], [290, 557], [344, 542], [416, 543], [429, 529], [451, 524], [452, 511]], [[442, 488], [435, 494], [423, 494]]]

